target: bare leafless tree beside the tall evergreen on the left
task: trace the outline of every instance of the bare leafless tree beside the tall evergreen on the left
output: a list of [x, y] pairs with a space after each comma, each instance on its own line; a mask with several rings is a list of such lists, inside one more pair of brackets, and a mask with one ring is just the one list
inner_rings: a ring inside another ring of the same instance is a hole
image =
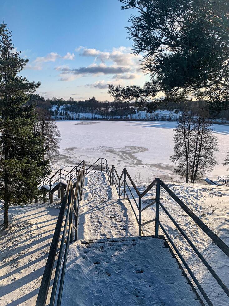
[[43, 140], [43, 149], [45, 149], [43, 160], [49, 160], [50, 163], [54, 162], [59, 154], [60, 131], [49, 111], [41, 108], [36, 109], [34, 133], [39, 134]]

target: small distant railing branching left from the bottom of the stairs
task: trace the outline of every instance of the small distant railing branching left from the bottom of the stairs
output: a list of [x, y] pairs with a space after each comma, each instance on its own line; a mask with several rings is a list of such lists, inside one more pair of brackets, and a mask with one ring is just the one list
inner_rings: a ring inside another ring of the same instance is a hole
[[47, 185], [51, 187], [58, 182], [61, 182], [62, 180], [67, 181], [67, 180], [75, 180], [77, 178], [77, 173], [79, 169], [82, 169], [82, 167], [85, 165], [85, 161], [81, 161], [79, 165], [74, 166], [73, 169], [70, 171], [64, 170], [64, 169], [59, 169], [57, 170], [51, 177], [45, 177], [40, 186], [42, 185]]

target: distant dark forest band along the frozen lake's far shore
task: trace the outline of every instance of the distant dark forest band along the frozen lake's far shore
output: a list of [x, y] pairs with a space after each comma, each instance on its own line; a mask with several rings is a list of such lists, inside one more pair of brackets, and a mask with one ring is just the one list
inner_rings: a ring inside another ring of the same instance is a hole
[[[135, 107], [135, 103], [124, 102], [118, 99], [114, 101], [98, 101], [95, 97], [88, 100], [75, 101], [72, 97], [68, 100], [44, 99], [38, 94], [31, 94], [27, 102], [28, 105], [34, 104], [36, 108], [44, 108], [50, 111], [50, 114], [56, 120], [73, 120], [73, 119], [136, 119], [136, 120], [168, 120], [175, 121], [180, 111], [188, 110], [193, 115], [198, 115], [203, 111], [205, 101], [184, 101], [184, 102], [169, 102], [166, 105], [161, 104], [158, 111], [167, 110], [166, 114], [159, 115], [158, 113], [141, 112]], [[208, 111], [207, 111], [208, 112]], [[218, 115], [210, 114], [208, 118], [213, 120], [227, 121], [229, 120], [229, 110], [221, 111]]]

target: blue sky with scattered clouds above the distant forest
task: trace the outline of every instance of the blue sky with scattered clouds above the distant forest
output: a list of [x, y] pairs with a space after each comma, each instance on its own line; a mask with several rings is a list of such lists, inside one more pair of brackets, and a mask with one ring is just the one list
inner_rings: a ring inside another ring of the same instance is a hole
[[0, 21], [21, 57], [29, 59], [23, 74], [41, 81], [37, 93], [111, 101], [107, 83], [148, 80], [125, 29], [136, 12], [120, 11], [120, 5], [118, 0], [1, 0]]

